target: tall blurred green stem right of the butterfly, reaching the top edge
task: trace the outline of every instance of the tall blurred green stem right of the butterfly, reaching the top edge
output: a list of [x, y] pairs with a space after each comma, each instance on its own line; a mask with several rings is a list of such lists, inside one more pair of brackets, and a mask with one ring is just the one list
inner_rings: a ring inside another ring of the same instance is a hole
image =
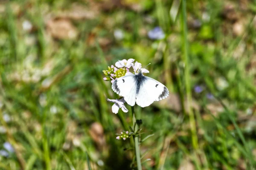
[[195, 118], [191, 108], [191, 88], [190, 88], [190, 75], [189, 75], [189, 47], [187, 37], [187, 23], [186, 23], [186, 0], [182, 0], [182, 27], [183, 27], [183, 61], [185, 63], [185, 84], [186, 84], [186, 98], [189, 113], [189, 123], [192, 133], [192, 144], [195, 149], [198, 148], [198, 139], [195, 127]]

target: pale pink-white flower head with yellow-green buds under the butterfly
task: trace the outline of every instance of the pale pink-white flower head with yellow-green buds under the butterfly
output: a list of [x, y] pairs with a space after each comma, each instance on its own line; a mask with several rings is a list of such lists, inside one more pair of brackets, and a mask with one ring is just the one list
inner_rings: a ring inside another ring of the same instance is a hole
[[[105, 81], [111, 81], [113, 83], [115, 79], [118, 79], [119, 77], [131, 75], [131, 74], [138, 74], [139, 70], [141, 70], [142, 73], [149, 73], [149, 71], [145, 68], [141, 67], [140, 62], [135, 62], [135, 59], [123, 59], [123, 60], [118, 60], [115, 63], [115, 66], [111, 65], [108, 66], [107, 70], [103, 70], [103, 73], [105, 74], [106, 77], [103, 79]], [[129, 69], [133, 68], [133, 71], [131, 72]], [[119, 108], [122, 109], [123, 112], [127, 113], [128, 109], [125, 107], [125, 99], [120, 98], [120, 99], [107, 99], [108, 102], [113, 102], [112, 106], [112, 112], [113, 113], [118, 113]]]

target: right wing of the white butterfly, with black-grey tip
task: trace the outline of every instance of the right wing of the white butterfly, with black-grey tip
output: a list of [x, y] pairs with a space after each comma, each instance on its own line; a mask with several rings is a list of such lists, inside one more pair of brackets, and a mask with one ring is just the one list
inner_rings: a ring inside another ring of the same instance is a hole
[[169, 91], [165, 85], [155, 79], [144, 76], [144, 81], [140, 86], [140, 91], [136, 96], [136, 103], [140, 107], [151, 105], [154, 101], [165, 99], [169, 96]]

